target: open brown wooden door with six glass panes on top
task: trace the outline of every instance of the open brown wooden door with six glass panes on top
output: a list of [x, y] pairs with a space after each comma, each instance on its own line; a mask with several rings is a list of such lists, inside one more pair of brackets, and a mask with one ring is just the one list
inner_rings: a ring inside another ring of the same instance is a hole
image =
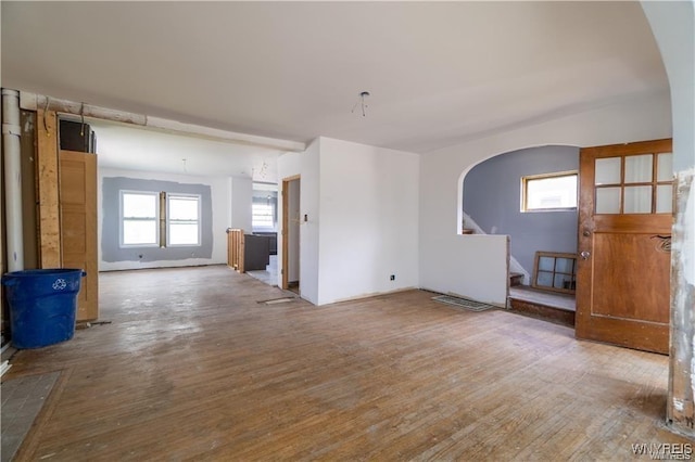
[[668, 354], [671, 140], [580, 151], [577, 337]]

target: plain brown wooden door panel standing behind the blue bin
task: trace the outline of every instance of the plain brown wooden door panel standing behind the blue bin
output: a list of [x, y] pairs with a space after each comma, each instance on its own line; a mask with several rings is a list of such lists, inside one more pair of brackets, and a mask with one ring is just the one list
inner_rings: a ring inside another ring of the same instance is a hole
[[81, 268], [77, 320], [99, 317], [97, 262], [97, 155], [60, 152], [61, 262], [63, 268]]

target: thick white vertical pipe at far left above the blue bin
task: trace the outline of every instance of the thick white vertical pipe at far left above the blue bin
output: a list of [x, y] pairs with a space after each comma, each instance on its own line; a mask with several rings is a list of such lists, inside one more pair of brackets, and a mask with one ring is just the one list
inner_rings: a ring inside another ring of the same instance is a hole
[[7, 214], [8, 270], [24, 269], [22, 233], [22, 153], [20, 145], [20, 92], [2, 89], [2, 147]]

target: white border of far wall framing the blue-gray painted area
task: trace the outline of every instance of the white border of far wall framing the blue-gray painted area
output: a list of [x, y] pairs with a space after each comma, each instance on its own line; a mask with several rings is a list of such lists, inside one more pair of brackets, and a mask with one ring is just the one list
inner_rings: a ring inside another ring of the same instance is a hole
[[[109, 168], [99, 168], [99, 185], [98, 185], [98, 233], [99, 233], [99, 270], [125, 270], [125, 269], [141, 269], [141, 268], [166, 268], [166, 267], [181, 267], [181, 266], [197, 266], [197, 265], [218, 265], [227, 261], [227, 233], [226, 230], [229, 227], [229, 197], [230, 197], [230, 184], [228, 178], [211, 178], [211, 177], [195, 177], [185, 175], [172, 175], [172, 174], [155, 174], [149, 171], [135, 171], [135, 170], [117, 170]], [[143, 180], [163, 180], [163, 181], [177, 181], [180, 183], [192, 184], [205, 184], [210, 185], [212, 195], [213, 207], [213, 253], [211, 258], [188, 258], [186, 260], [163, 260], [163, 261], [116, 261], [109, 262], [103, 261], [101, 255], [101, 236], [102, 236], [102, 220], [103, 215], [103, 197], [102, 197], [102, 181], [104, 177], [126, 177], [138, 178]]]

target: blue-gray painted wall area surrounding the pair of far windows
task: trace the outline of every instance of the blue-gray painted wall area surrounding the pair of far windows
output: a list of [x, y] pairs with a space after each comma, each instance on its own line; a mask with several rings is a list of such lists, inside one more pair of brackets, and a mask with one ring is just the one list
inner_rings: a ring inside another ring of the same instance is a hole
[[[201, 197], [201, 245], [185, 247], [121, 248], [119, 191], [150, 191], [178, 194], [199, 194]], [[142, 180], [138, 178], [103, 178], [102, 183], [101, 257], [103, 261], [160, 261], [211, 258], [213, 255], [213, 206], [211, 189], [206, 184], [184, 184], [175, 181]]]

